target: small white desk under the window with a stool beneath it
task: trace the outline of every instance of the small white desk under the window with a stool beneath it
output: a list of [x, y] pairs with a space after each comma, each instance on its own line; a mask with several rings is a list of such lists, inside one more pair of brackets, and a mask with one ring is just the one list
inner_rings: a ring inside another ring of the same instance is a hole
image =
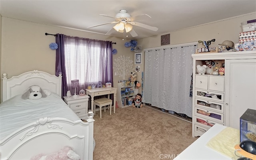
[[86, 89], [86, 94], [91, 96], [91, 109], [93, 112], [94, 108], [94, 97], [108, 95], [108, 99], [110, 98], [110, 94], [114, 94], [114, 113], [116, 113], [116, 91], [117, 88], [113, 87], [104, 87], [104, 88], [95, 88], [95, 89]]

